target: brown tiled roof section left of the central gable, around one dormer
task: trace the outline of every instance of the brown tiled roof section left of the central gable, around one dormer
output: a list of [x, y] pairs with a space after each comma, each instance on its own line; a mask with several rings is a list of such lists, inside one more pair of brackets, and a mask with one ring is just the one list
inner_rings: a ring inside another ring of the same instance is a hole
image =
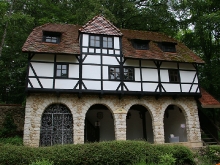
[[[22, 47], [23, 52], [80, 54], [78, 30], [81, 26], [48, 23], [33, 29]], [[61, 32], [59, 44], [42, 41], [43, 31]]]

